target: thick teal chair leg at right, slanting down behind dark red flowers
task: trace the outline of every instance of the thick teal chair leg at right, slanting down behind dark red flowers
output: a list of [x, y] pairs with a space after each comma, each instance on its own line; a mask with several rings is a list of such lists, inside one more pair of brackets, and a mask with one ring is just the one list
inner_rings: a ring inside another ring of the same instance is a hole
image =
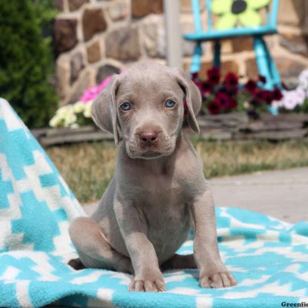
[[266, 83], [263, 85], [263, 88], [266, 90], [271, 90], [273, 89], [273, 80], [268, 63], [266, 45], [261, 36], [254, 36], [254, 49], [259, 74], [266, 78]]

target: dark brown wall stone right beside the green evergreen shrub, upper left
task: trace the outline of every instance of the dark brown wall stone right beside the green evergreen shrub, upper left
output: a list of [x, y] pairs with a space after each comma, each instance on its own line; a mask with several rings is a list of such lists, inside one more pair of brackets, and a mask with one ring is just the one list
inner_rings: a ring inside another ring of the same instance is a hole
[[72, 49], [77, 43], [77, 20], [56, 19], [54, 22], [54, 40], [57, 52]]

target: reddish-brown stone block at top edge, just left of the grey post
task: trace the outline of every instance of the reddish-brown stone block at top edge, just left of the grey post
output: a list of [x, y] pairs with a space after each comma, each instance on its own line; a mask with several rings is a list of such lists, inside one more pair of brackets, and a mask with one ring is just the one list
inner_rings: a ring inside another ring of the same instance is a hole
[[163, 0], [131, 0], [132, 17], [141, 18], [150, 13], [161, 14]]

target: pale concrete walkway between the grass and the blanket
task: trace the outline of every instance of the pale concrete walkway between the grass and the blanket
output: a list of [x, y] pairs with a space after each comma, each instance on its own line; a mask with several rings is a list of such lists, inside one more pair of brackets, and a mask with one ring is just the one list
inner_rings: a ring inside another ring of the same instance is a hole
[[[308, 221], [308, 168], [211, 179], [217, 206], [240, 207], [287, 222]], [[85, 205], [88, 214], [97, 203]]]

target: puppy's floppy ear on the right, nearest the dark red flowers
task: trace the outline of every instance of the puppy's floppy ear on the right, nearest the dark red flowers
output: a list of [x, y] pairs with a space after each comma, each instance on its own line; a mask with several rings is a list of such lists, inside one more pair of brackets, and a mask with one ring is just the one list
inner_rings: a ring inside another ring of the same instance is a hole
[[186, 102], [188, 107], [188, 125], [190, 128], [196, 132], [200, 132], [198, 122], [196, 120], [196, 115], [201, 108], [201, 93], [198, 87], [192, 82], [184, 73], [182, 69], [174, 69], [176, 79], [180, 87], [185, 91]]

